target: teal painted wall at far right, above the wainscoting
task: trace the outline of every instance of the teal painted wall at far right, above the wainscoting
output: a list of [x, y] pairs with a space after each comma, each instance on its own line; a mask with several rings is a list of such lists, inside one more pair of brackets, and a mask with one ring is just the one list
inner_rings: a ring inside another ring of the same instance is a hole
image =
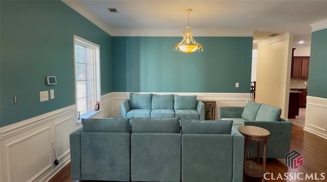
[[327, 98], [327, 29], [312, 33], [308, 95]]

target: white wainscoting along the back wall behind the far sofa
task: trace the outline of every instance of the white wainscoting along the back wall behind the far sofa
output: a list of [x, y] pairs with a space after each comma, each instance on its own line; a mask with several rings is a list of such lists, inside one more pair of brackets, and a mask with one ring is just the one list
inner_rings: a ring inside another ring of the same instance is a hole
[[[149, 92], [139, 92], [149, 93]], [[174, 95], [197, 95], [198, 100], [215, 100], [216, 113], [219, 116], [219, 107], [221, 106], [245, 106], [250, 100], [250, 93], [181, 93], [181, 92], [151, 92], [153, 94], [174, 94]], [[130, 92], [111, 92], [110, 93], [110, 117], [121, 117], [121, 103], [129, 99]]]

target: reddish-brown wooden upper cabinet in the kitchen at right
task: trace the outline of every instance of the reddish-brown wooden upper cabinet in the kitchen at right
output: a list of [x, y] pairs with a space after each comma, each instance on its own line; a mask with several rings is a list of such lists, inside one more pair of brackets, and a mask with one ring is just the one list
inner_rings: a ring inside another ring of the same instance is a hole
[[293, 57], [291, 76], [308, 77], [309, 62], [310, 62], [310, 57]]

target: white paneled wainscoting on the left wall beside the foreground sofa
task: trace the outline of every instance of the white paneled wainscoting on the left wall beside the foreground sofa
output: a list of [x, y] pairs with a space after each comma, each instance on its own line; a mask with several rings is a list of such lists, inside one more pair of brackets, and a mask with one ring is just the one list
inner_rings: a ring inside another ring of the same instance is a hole
[[0, 180], [49, 180], [70, 161], [69, 134], [81, 126], [76, 121], [73, 105], [1, 127]]

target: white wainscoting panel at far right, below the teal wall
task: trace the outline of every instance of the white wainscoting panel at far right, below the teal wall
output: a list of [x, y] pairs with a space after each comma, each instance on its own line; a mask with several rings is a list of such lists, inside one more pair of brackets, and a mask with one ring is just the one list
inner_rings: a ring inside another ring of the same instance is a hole
[[327, 139], [327, 98], [307, 96], [304, 130]]

